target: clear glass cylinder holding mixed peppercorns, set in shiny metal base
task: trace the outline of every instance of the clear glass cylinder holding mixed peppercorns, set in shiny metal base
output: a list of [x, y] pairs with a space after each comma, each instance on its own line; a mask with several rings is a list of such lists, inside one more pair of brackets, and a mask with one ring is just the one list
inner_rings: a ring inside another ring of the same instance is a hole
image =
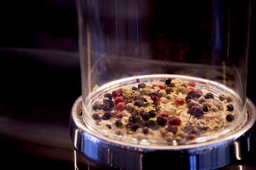
[[243, 127], [250, 1], [78, 0], [77, 9], [91, 129], [187, 145]]

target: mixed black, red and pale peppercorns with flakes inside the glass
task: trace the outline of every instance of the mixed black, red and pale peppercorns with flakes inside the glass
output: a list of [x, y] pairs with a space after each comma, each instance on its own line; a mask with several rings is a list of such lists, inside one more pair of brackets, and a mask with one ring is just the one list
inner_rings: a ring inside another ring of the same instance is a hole
[[231, 96], [215, 97], [193, 81], [164, 81], [106, 92], [93, 103], [97, 128], [124, 138], [179, 143], [221, 131], [236, 118]]

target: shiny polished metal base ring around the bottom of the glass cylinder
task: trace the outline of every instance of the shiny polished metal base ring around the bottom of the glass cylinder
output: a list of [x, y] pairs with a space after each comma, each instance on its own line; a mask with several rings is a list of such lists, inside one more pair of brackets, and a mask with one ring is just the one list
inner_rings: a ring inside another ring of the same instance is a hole
[[[218, 169], [241, 160], [250, 152], [256, 108], [246, 100], [248, 122], [236, 134], [186, 146], [143, 146], [106, 138], [91, 131], [81, 117], [82, 97], [74, 103], [70, 136], [74, 147], [102, 166], [118, 169]], [[75, 160], [76, 161], [76, 160]]]

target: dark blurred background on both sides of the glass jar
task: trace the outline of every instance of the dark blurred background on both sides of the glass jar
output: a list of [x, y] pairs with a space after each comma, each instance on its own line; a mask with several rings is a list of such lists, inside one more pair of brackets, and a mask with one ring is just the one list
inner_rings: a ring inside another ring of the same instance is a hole
[[[76, 1], [2, 1], [0, 23], [0, 169], [74, 169], [69, 118], [81, 95]], [[252, 1], [253, 103], [255, 48]]]

